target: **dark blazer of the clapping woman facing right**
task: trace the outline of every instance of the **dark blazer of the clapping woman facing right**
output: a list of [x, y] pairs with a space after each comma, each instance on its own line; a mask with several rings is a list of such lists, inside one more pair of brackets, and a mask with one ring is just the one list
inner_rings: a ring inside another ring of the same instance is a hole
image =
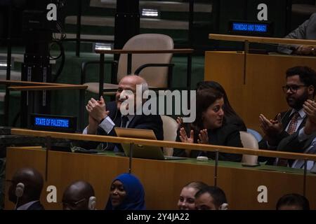
[[[186, 125], [186, 132], [189, 136], [190, 134], [190, 124]], [[195, 143], [197, 143], [198, 134], [195, 133]], [[222, 127], [216, 130], [208, 130], [209, 134], [209, 144], [216, 145], [216, 146], [233, 146], [233, 147], [243, 147], [242, 141], [240, 140], [239, 134], [239, 127], [234, 124], [224, 124]], [[180, 141], [180, 133], [178, 131], [178, 136], [176, 141]], [[215, 153], [213, 152], [206, 152], [203, 153], [201, 151], [193, 150], [190, 153], [191, 158], [197, 158], [198, 155], [205, 155], [208, 158], [215, 160]], [[185, 150], [183, 149], [175, 149], [173, 151], [173, 155], [176, 156], [183, 156], [185, 157]], [[242, 160], [241, 154], [233, 154], [233, 153], [219, 153], [218, 156], [219, 160], [226, 160], [226, 161], [233, 161], [233, 162], [240, 162]]]

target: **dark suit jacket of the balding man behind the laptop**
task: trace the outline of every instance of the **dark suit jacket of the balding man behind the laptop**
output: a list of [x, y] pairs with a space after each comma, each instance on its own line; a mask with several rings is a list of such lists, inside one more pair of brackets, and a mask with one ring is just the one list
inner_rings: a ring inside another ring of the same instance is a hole
[[[117, 104], [115, 102], [108, 102], [106, 104], [107, 111], [110, 111], [109, 116], [112, 119], [113, 123], [115, 124], [114, 127], [120, 127], [121, 125], [121, 112], [117, 110]], [[129, 128], [138, 128], [138, 129], [147, 129], [153, 130], [154, 134], [156, 135], [157, 140], [164, 140], [164, 130], [162, 127], [162, 118], [158, 115], [136, 115], [134, 116], [133, 120], [130, 121]], [[105, 132], [101, 127], [98, 127], [97, 134], [106, 135], [116, 137], [117, 134], [115, 133], [114, 128], [111, 130], [109, 134]], [[83, 147], [87, 149], [96, 148], [98, 143], [96, 142], [85, 142]], [[119, 151], [123, 152], [121, 148], [121, 144], [112, 144], [107, 143], [105, 146], [105, 150], [113, 151], [114, 146], [119, 148]]]

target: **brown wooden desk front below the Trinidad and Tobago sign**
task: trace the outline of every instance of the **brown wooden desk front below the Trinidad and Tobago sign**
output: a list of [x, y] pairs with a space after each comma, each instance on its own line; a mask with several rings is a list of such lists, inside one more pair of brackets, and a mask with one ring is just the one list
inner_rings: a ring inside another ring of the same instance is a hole
[[282, 85], [285, 84], [285, 71], [298, 65], [316, 70], [316, 57], [208, 51], [205, 52], [204, 80], [223, 85], [230, 104], [246, 126], [261, 132], [261, 113], [274, 118], [277, 113], [289, 109]]

